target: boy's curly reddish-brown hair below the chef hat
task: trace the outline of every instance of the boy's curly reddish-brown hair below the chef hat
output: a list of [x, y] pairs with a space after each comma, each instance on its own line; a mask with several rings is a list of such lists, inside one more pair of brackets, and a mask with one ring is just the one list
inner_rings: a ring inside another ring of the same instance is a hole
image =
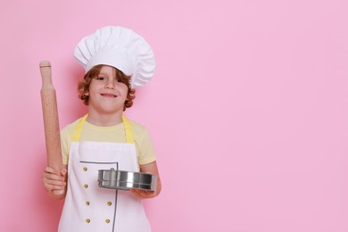
[[[87, 95], [89, 91], [89, 85], [92, 79], [99, 75], [100, 70], [102, 70], [103, 66], [103, 64], [95, 65], [95, 67], [93, 67], [91, 70], [88, 70], [85, 74], [85, 77], [79, 81], [79, 99], [81, 99], [86, 105], [88, 105], [89, 101], [89, 95]], [[134, 98], [136, 98], [136, 90], [130, 86], [130, 76], [125, 75], [121, 70], [118, 70], [116, 68], [114, 69], [116, 70], [116, 78], [128, 87], [127, 100], [123, 106], [123, 111], [126, 111], [126, 108], [129, 108], [133, 105], [133, 100]]]

